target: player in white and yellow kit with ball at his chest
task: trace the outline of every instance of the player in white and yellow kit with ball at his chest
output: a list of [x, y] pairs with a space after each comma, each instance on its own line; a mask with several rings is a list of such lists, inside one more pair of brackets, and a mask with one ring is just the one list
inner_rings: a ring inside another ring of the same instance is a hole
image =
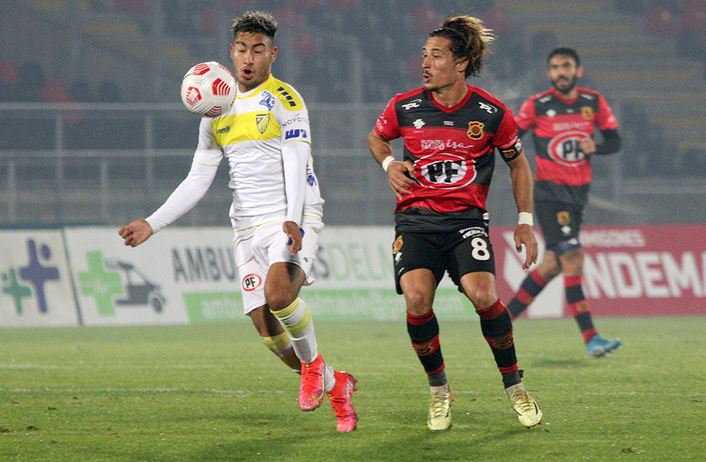
[[150, 217], [120, 229], [135, 247], [201, 200], [225, 157], [233, 190], [230, 218], [244, 310], [264, 344], [301, 373], [299, 407], [318, 408], [326, 394], [337, 430], [355, 430], [357, 380], [333, 370], [318, 353], [311, 311], [299, 289], [310, 272], [323, 229], [323, 199], [311, 160], [304, 101], [277, 80], [277, 23], [268, 13], [245, 13], [233, 24], [230, 53], [237, 98], [227, 113], [204, 117], [191, 171]]

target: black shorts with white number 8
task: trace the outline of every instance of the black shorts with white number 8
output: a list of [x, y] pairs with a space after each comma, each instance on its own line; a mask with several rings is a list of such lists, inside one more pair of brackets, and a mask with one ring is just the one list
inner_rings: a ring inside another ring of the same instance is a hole
[[393, 243], [395, 288], [402, 293], [400, 278], [412, 269], [429, 269], [436, 284], [448, 271], [459, 287], [465, 274], [489, 272], [495, 274], [493, 246], [484, 224], [467, 226], [445, 233], [396, 233]]

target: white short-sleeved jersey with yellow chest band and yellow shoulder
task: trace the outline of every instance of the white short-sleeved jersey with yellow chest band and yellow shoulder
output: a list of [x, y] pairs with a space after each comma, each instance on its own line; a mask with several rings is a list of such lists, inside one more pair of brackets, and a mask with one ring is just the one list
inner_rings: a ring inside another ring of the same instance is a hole
[[[272, 75], [249, 92], [238, 92], [224, 115], [203, 118], [193, 161], [217, 166], [228, 161], [234, 229], [287, 216], [282, 147], [289, 142], [311, 145], [309, 113], [301, 96]], [[309, 154], [303, 216], [321, 219], [323, 199]]]

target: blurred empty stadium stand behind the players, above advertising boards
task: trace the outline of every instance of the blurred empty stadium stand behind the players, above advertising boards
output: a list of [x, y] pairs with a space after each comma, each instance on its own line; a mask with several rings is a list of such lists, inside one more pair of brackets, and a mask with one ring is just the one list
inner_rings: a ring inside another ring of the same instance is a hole
[[[309, 104], [332, 224], [352, 224], [348, 212], [356, 205], [358, 224], [388, 223], [391, 200], [364, 138], [390, 96], [419, 85], [426, 32], [453, 13], [474, 14], [496, 30], [484, 76], [473, 84], [511, 109], [548, 87], [549, 49], [562, 44], [580, 51], [587, 69], [580, 85], [600, 90], [621, 120], [623, 154], [596, 164], [595, 191], [613, 209], [630, 202], [633, 212], [644, 210], [655, 194], [669, 202], [674, 176], [681, 178], [681, 193], [698, 197], [706, 179], [705, 3], [4, 1], [0, 22], [18, 39], [0, 56], [0, 103], [68, 100], [88, 106], [0, 108], [0, 210], [15, 211], [3, 214], [11, 217], [4, 221], [21, 221], [21, 201], [29, 204], [37, 195], [25, 191], [28, 185], [54, 197], [44, 211], [28, 214], [47, 223], [121, 222], [159, 205], [184, 176], [195, 142], [198, 121], [177, 109], [181, 75], [199, 61], [229, 63], [229, 19], [246, 9], [273, 11], [282, 24], [275, 74], [287, 75]], [[52, 41], [61, 53], [47, 49]], [[29, 69], [23, 56], [36, 58]], [[136, 103], [142, 105], [131, 106]], [[52, 177], [44, 186], [31, 172], [35, 162], [37, 178]], [[643, 200], [647, 184], [651, 195]], [[21, 194], [9, 197], [11, 188]], [[138, 211], [127, 210], [124, 204], [135, 197]], [[210, 210], [227, 207], [227, 201], [227, 194], [207, 197], [184, 224], [222, 224], [220, 210]], [[501, 222], [513, 215], [503, 207], [496, 214]], [[626, 219], [634, 220], [633, 212]], [[638, 219], [661, 219], [640, 213]]]

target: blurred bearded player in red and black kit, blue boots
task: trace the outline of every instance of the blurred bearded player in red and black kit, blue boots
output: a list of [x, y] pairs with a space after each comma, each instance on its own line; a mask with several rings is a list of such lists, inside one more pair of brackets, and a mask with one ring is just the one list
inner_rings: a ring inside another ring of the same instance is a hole
[[[525, 277], [508, 303], [508, 310], [513, 318], [519, 316], [551, 279], [563, 273], [566, 301], [578, 322], [586, 351], [599, 358], [621, 342], [604, 339], [594, 327], [581, 288], [583, 251], [579, 231], [588, 202], [590, 158], [620, 149], [618, 121], [599, 92], [576, 86], [583, 68], [574, 49], [556, 48], [546, 62], [553, 87], [527, 99], [515, 117], [520, 137], [532, 130], [537, 148], [534, 212], [542, 226], [546, 250], [542, 262]], [[604, 138], [599, 145], [593, 138], [594, 127]]]

